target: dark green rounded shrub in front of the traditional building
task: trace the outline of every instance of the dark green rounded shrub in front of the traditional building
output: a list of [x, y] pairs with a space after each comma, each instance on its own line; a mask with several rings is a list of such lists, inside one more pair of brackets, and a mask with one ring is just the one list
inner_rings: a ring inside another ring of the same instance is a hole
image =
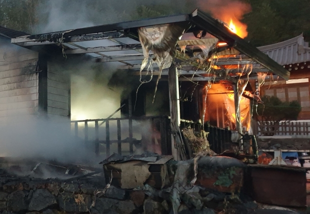
[[281, 101], [275, 96], [261, 97], [263, 103], [257, 105], [253, 117], [258, 121], [271, 121], [273, 124], [281, 120], [296, 120], [301, 106], [297, 100], [290, 102]]

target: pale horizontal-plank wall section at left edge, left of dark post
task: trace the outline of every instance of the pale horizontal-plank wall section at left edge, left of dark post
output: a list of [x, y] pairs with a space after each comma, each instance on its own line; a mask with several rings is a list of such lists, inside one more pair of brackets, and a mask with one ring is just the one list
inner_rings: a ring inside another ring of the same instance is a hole
[[1, 42], [0, 120], [38, 110], [38, 53]]

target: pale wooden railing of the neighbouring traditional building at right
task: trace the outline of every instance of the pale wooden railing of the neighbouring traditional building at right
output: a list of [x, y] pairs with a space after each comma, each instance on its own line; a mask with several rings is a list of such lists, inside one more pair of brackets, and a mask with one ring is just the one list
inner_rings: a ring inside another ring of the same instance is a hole
[[270, 121], [254, 122], [253, 131], [259, 136], [274, 135], [309, 135], [310, 122], [280, 122], [273, 124]]

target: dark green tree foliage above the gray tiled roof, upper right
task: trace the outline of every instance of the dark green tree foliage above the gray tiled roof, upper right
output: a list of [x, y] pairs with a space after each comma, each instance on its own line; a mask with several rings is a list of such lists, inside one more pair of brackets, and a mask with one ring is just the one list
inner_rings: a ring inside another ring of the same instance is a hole
[[243, 17], [246, 37], [256, 46], [287, 40], [303, 33], [310, 40], [310, 0], [245, 0], [251, 12]]

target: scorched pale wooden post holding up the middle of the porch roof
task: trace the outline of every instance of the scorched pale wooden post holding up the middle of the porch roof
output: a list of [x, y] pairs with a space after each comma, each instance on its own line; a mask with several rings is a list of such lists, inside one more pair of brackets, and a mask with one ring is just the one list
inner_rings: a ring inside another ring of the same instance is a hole
[[[169, 83], [169, 100], [170, 100], [170, 122], [174, 127], [179, 127], [180, 125], [180, 105], [179, 105], [179, 91], [178, 91], [178, 75], [177, 68], [174, 67], [172, 62], [169, 72], [168, 72], [168, 83]], [[171, 125], [172, 125], [171, 124]], [[177, 149], [174, 145], [174, 137], [171, 135], [171, 151], [174, 160], [178, 160]]]

